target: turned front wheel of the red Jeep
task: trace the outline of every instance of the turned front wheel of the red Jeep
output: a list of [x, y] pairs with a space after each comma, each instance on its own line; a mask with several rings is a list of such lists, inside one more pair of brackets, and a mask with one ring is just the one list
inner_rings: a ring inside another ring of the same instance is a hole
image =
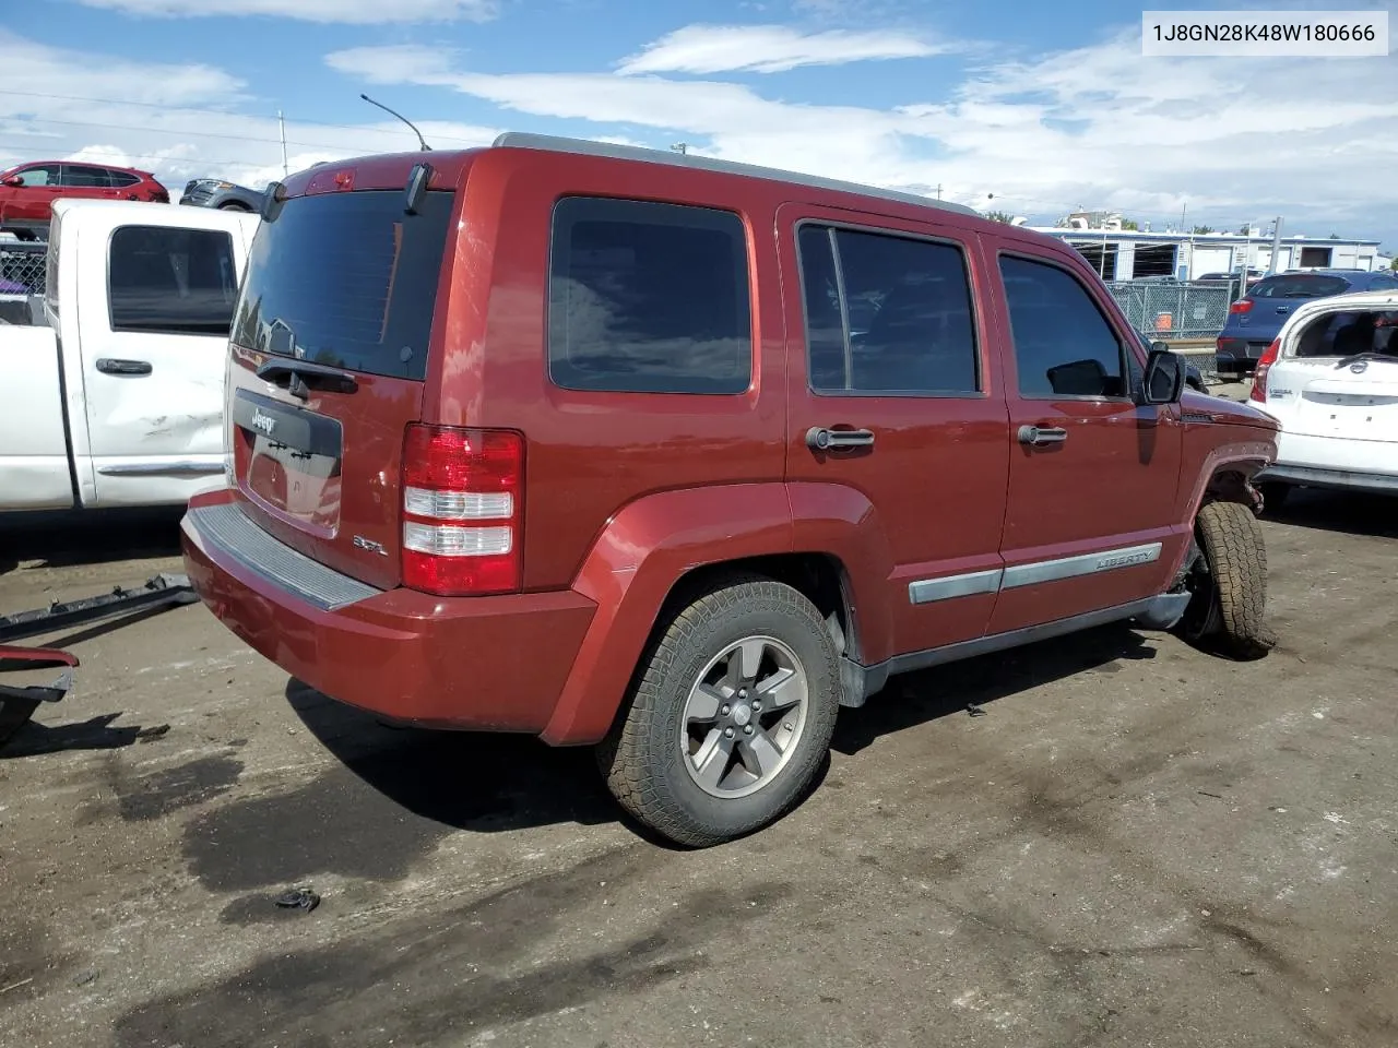
[[1257, 516], [1241, 503], [1211, 502], [1194, 530], [1184, 639], [1230, 658], [1261, 658], [1276, 637], [1267, 625], [1267, 545]]

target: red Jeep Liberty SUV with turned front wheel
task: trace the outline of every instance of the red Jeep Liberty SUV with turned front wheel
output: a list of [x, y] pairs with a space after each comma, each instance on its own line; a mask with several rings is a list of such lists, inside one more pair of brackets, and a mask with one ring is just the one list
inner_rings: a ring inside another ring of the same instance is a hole
[[1276, 423], [1183, 387], [959, 205], [521, 134], [327, 163], [268, 189], [185, 558], [326, 694], [596, 745], [707, 845], [892, 674], [1127, 620], [1265, 653]]

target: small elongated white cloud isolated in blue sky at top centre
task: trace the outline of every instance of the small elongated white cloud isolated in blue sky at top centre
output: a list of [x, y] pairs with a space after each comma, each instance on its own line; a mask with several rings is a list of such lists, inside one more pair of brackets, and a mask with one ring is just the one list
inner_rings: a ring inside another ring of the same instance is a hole
[[801, 32], [787, 25], [686, 25], [625, 59], [621, 73], [784, 73], [798, 66], [918, 59], [951, 50], [902, 32]]

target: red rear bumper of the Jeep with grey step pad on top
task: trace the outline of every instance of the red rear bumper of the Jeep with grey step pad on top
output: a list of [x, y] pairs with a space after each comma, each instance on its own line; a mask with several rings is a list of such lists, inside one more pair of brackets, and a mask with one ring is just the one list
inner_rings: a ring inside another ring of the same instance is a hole
[[[226, 490], [192, 500], [182, 523], [186, 573], [210, 611], [266, 658], [389, 720], [544, 731], [591, 601], [570, 590], [480, 598], [370, 590], [260, 530], [249, 556], [236, 548], [231, 513]], [[268, 541], [274, 548], [263, 549]]]

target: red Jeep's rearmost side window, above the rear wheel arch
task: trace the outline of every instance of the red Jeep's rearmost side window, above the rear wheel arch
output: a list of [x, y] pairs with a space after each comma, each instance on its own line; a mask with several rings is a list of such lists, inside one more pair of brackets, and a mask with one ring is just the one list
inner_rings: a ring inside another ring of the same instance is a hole
[[728, 211], [566, 197], [554, 208], [548, 373], [593, 393], [744, 393], [748, 239]]

